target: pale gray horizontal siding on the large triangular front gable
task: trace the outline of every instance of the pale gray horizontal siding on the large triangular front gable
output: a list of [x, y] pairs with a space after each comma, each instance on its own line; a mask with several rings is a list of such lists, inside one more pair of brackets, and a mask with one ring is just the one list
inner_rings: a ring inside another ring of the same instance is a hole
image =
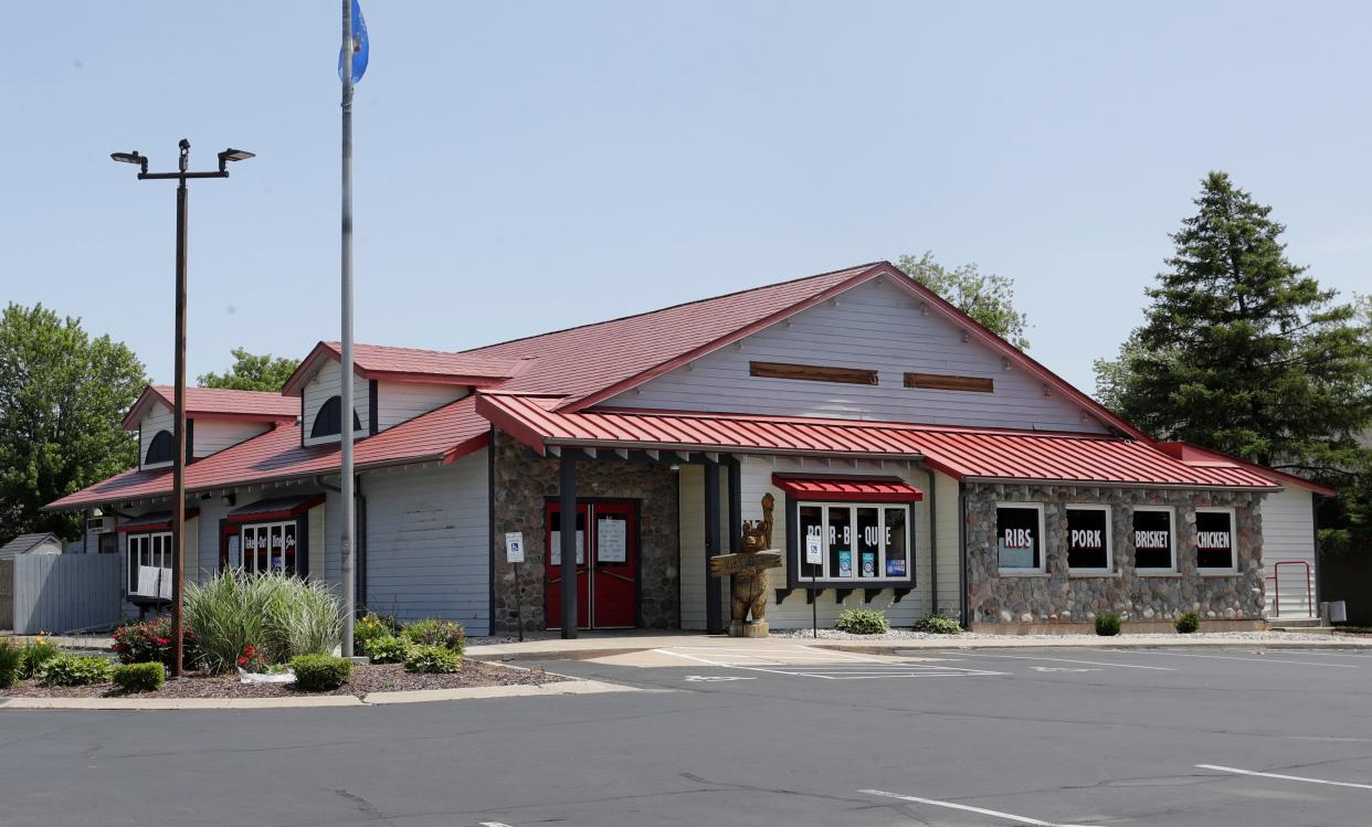
[[[750, 361], [877, 370], [878, 385], [760, 379]], [[993, 394], [904, 387], [904, 373], [975, 376], [995, 381]], [[1043, 381], [899, 288], [871, 281], [786, 322], [678, 368], [606, 406], [654, 410], [740, 411], [771, 416], [845, 417], [988, 428], [1103, 432], [1093, 418]]]

